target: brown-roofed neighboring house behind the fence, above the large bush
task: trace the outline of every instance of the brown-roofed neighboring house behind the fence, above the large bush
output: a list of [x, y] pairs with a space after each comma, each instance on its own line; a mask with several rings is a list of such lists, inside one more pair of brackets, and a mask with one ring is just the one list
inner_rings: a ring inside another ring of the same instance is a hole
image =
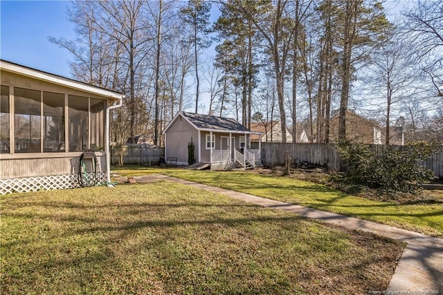
[[[338, 114], [332, 116], [330, 124], [329, 142], [338, 141]], [[372, 120], [357, 115], [354, 111], [346, 111], [346, 138], [352, 142], [365, 144], [382, 144], [381, 127]]]

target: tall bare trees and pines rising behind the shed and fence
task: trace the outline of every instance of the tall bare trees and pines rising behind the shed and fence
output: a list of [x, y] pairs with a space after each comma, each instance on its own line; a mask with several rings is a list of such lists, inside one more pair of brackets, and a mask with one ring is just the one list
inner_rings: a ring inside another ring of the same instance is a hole
[[192, 109], [246, 127], [279, 120], [284, 142], [288, 128], [327, 143], [332, 116], [345, 139], [352, 108], [386, 126], [389, 144], [392, 121], [443, 129], [443, 3], [386, 15], [377, 0], [73, 1], [77, 38], [50, 40], [73, 54], [75, 79], [125, 93], [113, 141], [161, 145]]

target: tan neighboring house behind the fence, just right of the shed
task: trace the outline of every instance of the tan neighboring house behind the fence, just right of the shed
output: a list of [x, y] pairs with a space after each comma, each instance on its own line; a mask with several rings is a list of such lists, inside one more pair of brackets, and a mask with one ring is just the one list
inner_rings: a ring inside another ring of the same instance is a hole
[[[251, 136], [251, 142], [253, 143], [257, 143], [259, 139], [264, 143], [282, 142], [282, 123], [280, 120], [251, 123], [251, 131], [261, 133], [261, 135], [253, 134]], [[286, 129], [286, 142], [292, 142], [292, 134], [289, 129]]]

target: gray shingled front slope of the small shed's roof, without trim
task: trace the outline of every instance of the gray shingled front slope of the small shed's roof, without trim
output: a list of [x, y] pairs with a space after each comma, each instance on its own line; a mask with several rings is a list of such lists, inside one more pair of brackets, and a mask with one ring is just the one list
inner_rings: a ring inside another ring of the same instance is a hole
[[182, 112], [183, 116], [188, 118], [192, 124], [198, 129], [217, 129], [231, 130], [238, 132], [250, 132], [248, 128], [231, 118], [222, 118], [216, 116], [208, 116], [202, 114], [192, 114], [186, 111]]

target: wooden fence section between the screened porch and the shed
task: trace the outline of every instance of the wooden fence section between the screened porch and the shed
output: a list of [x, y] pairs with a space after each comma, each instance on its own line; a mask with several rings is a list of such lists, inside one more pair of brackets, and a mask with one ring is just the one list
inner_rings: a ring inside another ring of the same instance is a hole
[[[158, 165], [160, 158], [163, 157], [165, 157], [165, 149], [163, 147], [145, 147], [139, 144], [127, 144], [123, 146], [123, 165]], [[120, 148], [115, 145], [111, 146], [111, 164], [117, 164], [119, 159]]]

